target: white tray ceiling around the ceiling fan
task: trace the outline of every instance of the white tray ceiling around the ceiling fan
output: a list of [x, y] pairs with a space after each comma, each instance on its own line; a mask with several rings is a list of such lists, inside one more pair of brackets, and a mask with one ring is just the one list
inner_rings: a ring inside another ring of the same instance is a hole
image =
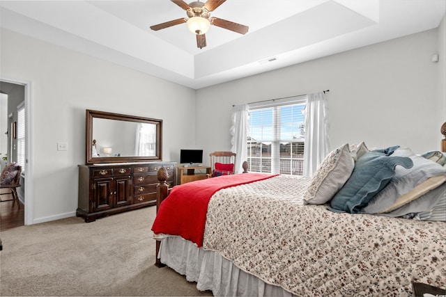
[[433, 29], [445, 13], [446, 0], [227, 0], [211, 16], [248, 33], [211, 26], [198, 49], [186, 24], [149, 29], [187, 17], [169, 0], [0, 1], [6, 29], [195, 89]]

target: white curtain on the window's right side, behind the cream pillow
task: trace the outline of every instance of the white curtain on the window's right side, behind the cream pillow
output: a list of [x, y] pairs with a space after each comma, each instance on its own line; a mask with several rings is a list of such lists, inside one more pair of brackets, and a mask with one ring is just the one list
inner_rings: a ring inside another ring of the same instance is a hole
[[318, 165], [330, 152], [328, 112], [323, 92], [307, 95], [305, 116], [304, 177], [312, 177]]

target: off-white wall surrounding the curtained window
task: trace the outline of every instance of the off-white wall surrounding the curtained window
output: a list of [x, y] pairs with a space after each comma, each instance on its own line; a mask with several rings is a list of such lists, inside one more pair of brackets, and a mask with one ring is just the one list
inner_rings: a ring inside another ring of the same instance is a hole
[[431, 62], [437, 40], [433, 29], [198, 90], [197, 145], [205, 154], [231, 148], [233, 104], [330, 89], [332, 148], [365, 141], [438, 150], [446, 111], [438, 96], [442, 66]]

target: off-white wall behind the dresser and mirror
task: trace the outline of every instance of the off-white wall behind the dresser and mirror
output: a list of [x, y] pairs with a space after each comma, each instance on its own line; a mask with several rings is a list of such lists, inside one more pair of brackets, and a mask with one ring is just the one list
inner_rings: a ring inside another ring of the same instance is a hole
[[195, 90], [6, 29], [0, 45], [1, 76], [32, 83], [34, 222], [75, 214], [86, 109], [162, 119], [164, 161], [194, 146]]

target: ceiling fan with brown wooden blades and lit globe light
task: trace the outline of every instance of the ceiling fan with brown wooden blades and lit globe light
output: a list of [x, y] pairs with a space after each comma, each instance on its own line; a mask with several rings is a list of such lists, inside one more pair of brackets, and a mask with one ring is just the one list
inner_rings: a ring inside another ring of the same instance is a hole
[[158, 31], [183, 23], [187, 23], [187, 28], [197, 36], [197, 47], [200, 49], [206, 47], [206, 35], [210, 25], [219, 26], [223, 29], [228, 29], [240, 34], [247, 33], [249, 27], [234, 22], [226, 21], [226, 19], [220, 19], [218, 17], [210, 17], [210, 12], [215, 10], [218, 6], [222, 5], [226, 0], [208, 0], [206, 3], [200, 1], [194, 1], [189, 4], [183, 0], [171, 0], [176, 5], [186, 10], [187, 17], [174, 19], [169, 22], [157, 24], [151, 26], [151, 29]]

